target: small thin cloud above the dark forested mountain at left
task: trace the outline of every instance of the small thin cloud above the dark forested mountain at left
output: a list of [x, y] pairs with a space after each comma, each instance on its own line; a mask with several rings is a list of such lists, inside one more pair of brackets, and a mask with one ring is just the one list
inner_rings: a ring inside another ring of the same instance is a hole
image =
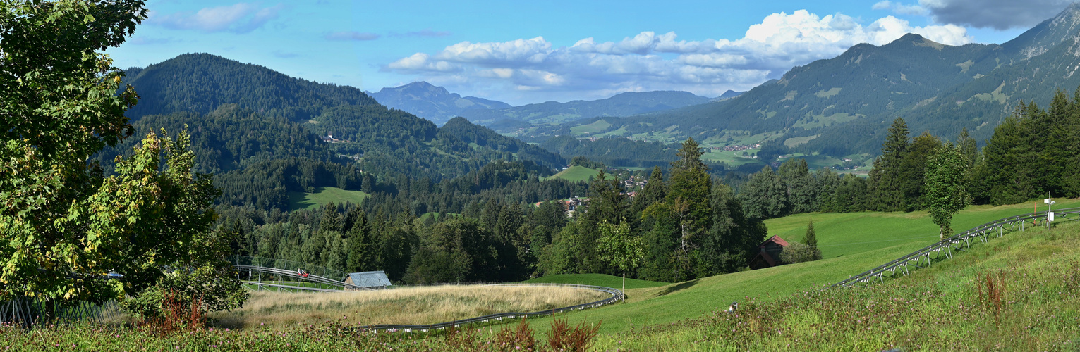
[[205, 8], [194, 13], [177, 12], [162, 15], [151, 13], [147, 23], [178, 30], [246, 33], [278, 18], [278, 13], [284, 8], [284, 4], [260, 8], [257, 4], [241, 2], [227, 6]]

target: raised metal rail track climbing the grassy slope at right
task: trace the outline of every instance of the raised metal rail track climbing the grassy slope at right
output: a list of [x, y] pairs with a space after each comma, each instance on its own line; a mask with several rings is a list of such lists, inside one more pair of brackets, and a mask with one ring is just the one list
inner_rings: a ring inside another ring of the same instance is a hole
[[[1080, 219], [1068, 217], [1069, 215], [1076, 215], [1076, 214], [1080, 214], [1080, 208], [1067, 208], [1054, 211], [1055, 217], [1059, 217], [1063, 220], [1074, 220], [1074, 221], [1080, 220]], [[877, 278], [878, 281], [885, 281], [886, 273], [895, 276], [896, 272], [901, 272], [906, 276], [908, 272], [910, 272], [910, 270], [913, 270], [909, 268], [909, 266], [914, 266], [916, 269], [929, 267], [930, 264], [932, 263], [930, 257], [932, 254], [935, 256], [934, 259], [941, 258], [943, 255], [946, 258], [950, 258], [953, 257], [953, 250], [964, 251], [964, 248], [971, 248], [971, 242], [973, 239], [986, 242], [989, 240], [989, 236], [993, 235], [994, 233], [997, 233], [997, 236], [1001, 237], [1004, 236], [1005, 231], [1012, 233], [1017, 229], [1023, 231], [1026, 227], [1041, 226], [1041, 225], [1049, 226], [1045, 211], [995, 220], [993, 222], [975, 226], [963, 233], [953, 235], [949, 238], [939, 241], [937, 243], [927, 245], [921, 250], [901, 256], [892, 262], [886, 263], [876, 268], [863, 271], [860, 274], [837, 282], [829, 287], [851, 286], [856, 283], [869, 282], [875, 278]], [[963, 248], [961, 248], [961, 245]]]

